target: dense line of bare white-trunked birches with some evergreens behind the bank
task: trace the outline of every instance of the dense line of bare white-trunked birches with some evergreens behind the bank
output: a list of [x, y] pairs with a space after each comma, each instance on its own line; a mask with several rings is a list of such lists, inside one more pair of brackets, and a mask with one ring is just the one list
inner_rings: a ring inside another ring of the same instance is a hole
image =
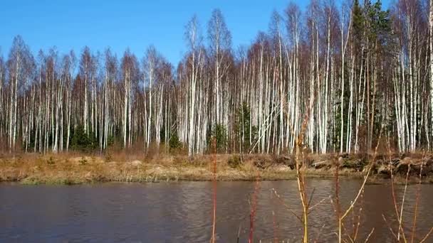
[[177, 67], [153, 47], [142, 59], [88, 47], [33, 56], [17, 36], [0, 58], [0, 146], [57, 153], [140, 142], [192, 155], [215, 137], [221, 153], [282, 153], [305, 130], [313, 152], [356, 153], [382, 130], [396, 151], [431, 149], [432, 10], [427, 0], [388, 10], [369, 0], [291, 3], [239, 48], [215, 10], [204, 35], [195, 16], [187, 23]]

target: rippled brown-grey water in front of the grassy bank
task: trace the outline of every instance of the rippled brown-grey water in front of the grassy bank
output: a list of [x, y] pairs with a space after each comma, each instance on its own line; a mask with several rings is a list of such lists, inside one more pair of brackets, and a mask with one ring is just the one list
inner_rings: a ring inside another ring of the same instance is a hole
[[[342, 180], [343, 207], [355, 198], [360, 180]], [[216, 241], [248, 242], [254, 182], [218, 182]], [[257, 193], [254, 241], [300, 242], [301, 223], [286, 206], [301, 209], [296, 180], [263, 181]], [[311, 205], [323, 200], [309, 215], [310, 238], [336, 242], [335, 214], [330, 195], [333, 180], [308, 180]], [[396, 188], [401, 198], [403, 187]], [[416, 239], [433, 226], [433, 185], [422, 185]], [[417, 185], [407, 189], [404, 222], [412, 229]], [[388, 223], [395, 224], [390, 185], [367, 185], [362, 202], [358, 239], [395, 242]], [[356, 211], [358, 212], [358, 208]], [[273, 216], [273, 212], [274, 215]], [[345, 227], [352, 231], [352, 215]], [[209, 242], [212, 234], [212, 182], [102, 183], [93, 185], [0, 184], [0, 242]], [[433, 242], [433, 238], [427, 240]]]

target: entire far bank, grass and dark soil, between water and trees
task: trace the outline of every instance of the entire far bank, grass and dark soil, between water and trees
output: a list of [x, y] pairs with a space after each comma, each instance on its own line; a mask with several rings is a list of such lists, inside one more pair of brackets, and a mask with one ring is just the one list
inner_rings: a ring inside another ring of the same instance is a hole
[[[131, 158], [133, 157], [133, 158]], [[0, 181], [21, 183], [77, 184], [108, 181], [159, 182], [172, 180], [212, 180], [213, 156], [81, 156], [78, 154], [24, 154], [0, 156]], [[339, 175], [362, 178], [371, 156], [361, 154], [305, 156], [308, 178]], [[288, 180], [296, 178], [293, 156], [217, 155], [216, 180]], [[424, 183], [433, 182], [433, 156], [419, 154], [376, 156], [371, 182], [389, 178], [392, 170], [400, 178], [410, 167], [412, 182], [422, 172]], [[421, 171], [422, 168], [422, 171]], [[401, 179], [400, 179], [401, 180]], [[386, 180], [384, 180], [386, 181]]]

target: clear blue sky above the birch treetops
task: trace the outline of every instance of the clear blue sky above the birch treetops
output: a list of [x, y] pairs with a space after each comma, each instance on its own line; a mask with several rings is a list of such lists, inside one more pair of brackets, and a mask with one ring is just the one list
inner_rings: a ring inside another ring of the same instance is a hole
[[[9, 53], [14, 36], [21, 35], [33, 53], [57, 47], [60, 53], [85, 45], [90, 50], [110, 47], [120, 57], [130, 48], [142, 58], [155, 45], [177, 65], [185, 52], [184, 26], [197, 13], [204, 40], [209, 16], [221, 9], [234, 48], [248, 45], [258, 31], [267, 31], [273, 9], [283, 11], [288, 0], [4, 0], [0, 4], [0, 55]], [[296, 1], [301, 9], [306, 1]]]

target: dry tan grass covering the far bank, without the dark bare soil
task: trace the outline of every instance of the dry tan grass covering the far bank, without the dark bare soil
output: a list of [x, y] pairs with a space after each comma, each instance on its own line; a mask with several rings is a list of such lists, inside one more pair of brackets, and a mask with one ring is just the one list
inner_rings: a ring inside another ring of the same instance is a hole
[[[296, 170], [291, 168], [291, 158], [272, 155], [254, 154], [241, 156], [241, 163], [233, 167], [229, 161], [232, 154], [216, 155], [216, 180], [256, 180], [260, 173], [261, 180], [293, 180]], [[363, 155], [348, 155], [348, 159], [358, 159]], [[314, 162], [333, 160], [335, 154], [308, 155], [309, 165]], [[418, 158], [418, 156], [416, 156]], [[331, 168], [308, 167], [307, 178], [333, 178], [335, 166]], [[361, 171], [340, 168], [339, 175], [350, 178], [362, 178]], [[21, 153], [11, 156], [0, 154], [0, 181], [19, 181], [21, 183], [56, 183], [77, 184], [109, 181], [150, 182], [167, 180], [212, 180], [212, 155], [194, 156], [168, 155], [133, 151], [110, 151], [103, 154], [83, 154], [77, 152]], [[399, 178], [395, 183], [399, 183]], [[409, 183], [416, 183], [416, 178]], [[403, 183], [404, 180], [401, 180]], [[433, 177], [424, 177], [423, 183], [432, 183]], [[381, 176], [373, 175], [367, 183], [387, 183]]]

